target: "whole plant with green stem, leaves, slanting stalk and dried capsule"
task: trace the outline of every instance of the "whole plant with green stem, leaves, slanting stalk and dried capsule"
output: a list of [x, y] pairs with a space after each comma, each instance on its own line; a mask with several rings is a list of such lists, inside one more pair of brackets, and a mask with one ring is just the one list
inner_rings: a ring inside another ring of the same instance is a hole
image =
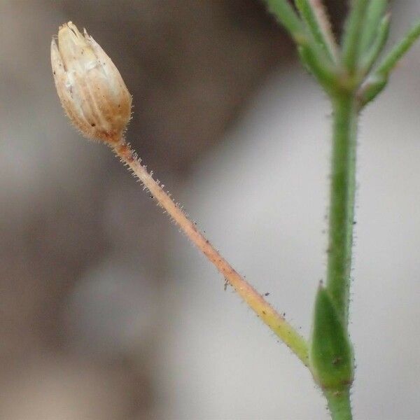
[[[265, 0], [297, 45], [302, 64], [328, 95], [332, 108], [332, 153], [325, 283], [314, 302], [311, 337], [304, 339], [197, 230], [195, 223], [153, 179], [125, 141], [131, 96], [111, 59], [71, 22], [51, 44], [52, 71], [59, 99], [74, 125], [103, 141], [144, 184], [181, 230], [217, 267], [260, 319], [309, 369], [328, 402], [332, 419], [352, 418], [354, 378], [349, 337], [349, 286], [356, 186], [356, 134], [360, 111], [388, 83], [395, 64], [420, 36], [420, 22], [381, 59], [390, 15], [386, 0], [352, 0], [338, 42], [321, 0]], [[279, 414], [281, 416], [281, 414]]]

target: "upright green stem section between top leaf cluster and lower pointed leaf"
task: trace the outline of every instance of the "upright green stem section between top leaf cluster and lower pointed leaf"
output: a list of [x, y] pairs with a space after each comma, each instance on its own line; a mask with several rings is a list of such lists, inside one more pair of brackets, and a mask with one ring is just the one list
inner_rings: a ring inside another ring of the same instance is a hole
[[346, 328], [356, 186], [357, 106], [353, 93], [333, 98], [334, 126], [326, 288]]

